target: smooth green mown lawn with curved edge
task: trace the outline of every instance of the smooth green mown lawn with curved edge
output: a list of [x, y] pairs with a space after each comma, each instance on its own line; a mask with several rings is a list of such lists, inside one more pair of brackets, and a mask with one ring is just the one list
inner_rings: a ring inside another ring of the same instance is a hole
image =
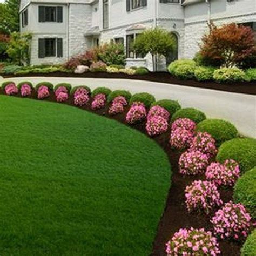
[[170, 187], [161, 148], [114, 120], [0, 96], [0, 255], [147, 255]]

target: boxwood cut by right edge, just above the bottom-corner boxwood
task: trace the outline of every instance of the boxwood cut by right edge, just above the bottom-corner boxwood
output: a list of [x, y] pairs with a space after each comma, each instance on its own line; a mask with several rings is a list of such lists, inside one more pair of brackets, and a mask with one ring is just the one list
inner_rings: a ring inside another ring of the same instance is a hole
[[256, 218], [256, 166], [243, 174], [234, 186], [235, 203], [242, 203]]

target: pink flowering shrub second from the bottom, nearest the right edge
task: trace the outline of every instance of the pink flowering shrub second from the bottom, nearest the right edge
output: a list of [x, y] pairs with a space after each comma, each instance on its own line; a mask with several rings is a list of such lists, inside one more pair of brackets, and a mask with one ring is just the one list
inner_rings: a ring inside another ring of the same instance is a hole
[[247, 237], [250, 232], [250, 222], [251, 216], [246, 212], [244, 205], [232, 201], [220, 208], [211, 219], [214, 234], [221, 239]]

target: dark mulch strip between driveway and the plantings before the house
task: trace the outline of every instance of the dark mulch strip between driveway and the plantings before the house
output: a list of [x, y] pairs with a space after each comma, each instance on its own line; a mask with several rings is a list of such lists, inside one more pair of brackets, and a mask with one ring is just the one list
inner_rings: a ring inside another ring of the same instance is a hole
[[256, 83], [255, 82], [242, 82], [242, 83], [230, 83], [230, 84], [218, 84], [213, 81], [209, 82], [197, 82], [196, 80], [180, 80], [176, 77], [173, 77], [168, 72], [149, 72], [147, 75], [126, 75], [124, 73], [107, 73], [107, 72], [87, 72], [82, 75], [77, 75], [74, 73], [31, 73], [28, 75], [3, 75], [4, 78], [11, 77], [82, 77], [82, 78], [119, 78], [119, 79], [137, 79], [137, 80], [146, 80], [151, 82], [167, 83], [167, 84], [178, 84], [190, 87], [199, 87], [205, 89], [213, 89], [219, 91], [227, 92], [239, 92], [247, 93], [251, 95], [256, 95]]

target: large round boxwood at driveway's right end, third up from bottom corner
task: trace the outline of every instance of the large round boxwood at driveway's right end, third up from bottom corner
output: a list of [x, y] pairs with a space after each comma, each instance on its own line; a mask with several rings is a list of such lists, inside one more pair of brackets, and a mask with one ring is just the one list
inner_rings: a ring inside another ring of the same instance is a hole
[[226, 159], [234, 159], [239, 163], [241, 172], [256, 166], [256, 139], [235, 138], [223, 143], [217, 154], [217, 161], [224, 163]]

